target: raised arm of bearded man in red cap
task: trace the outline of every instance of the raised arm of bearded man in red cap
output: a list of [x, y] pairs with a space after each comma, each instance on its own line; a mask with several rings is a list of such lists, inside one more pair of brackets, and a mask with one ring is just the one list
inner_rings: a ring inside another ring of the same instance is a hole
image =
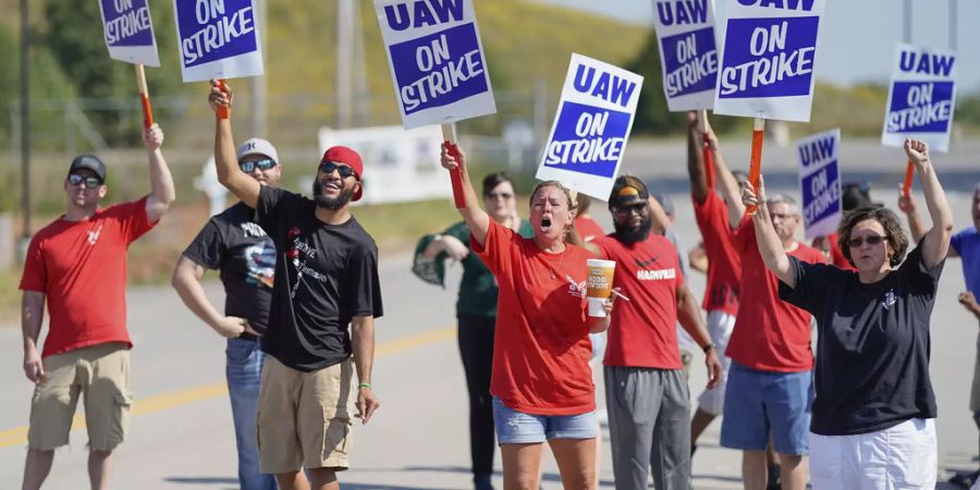
[[[218, 112], [219, 107], [231, 110], [232, 90], [228, 84], [219, 85], [211, 81], [211, 93], [208, 95], [211, 109]], [[228, 187], [238, 199], [255, 209], [258, 206], [261, 184], [238, 169], [235, 158], [235, 138], [231, 131], [231, 118], [218, 119], [215, 127], [215, 167], [218, 170], [218, 182]]]

